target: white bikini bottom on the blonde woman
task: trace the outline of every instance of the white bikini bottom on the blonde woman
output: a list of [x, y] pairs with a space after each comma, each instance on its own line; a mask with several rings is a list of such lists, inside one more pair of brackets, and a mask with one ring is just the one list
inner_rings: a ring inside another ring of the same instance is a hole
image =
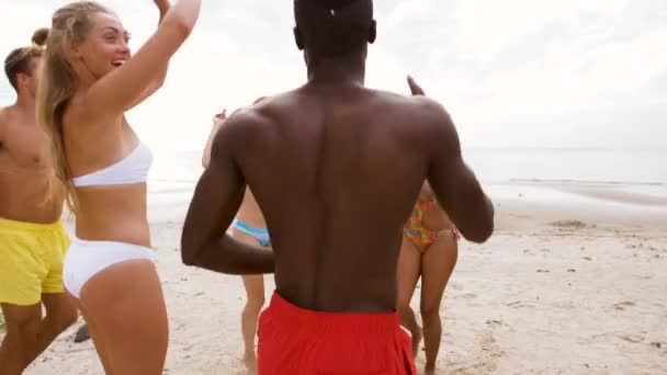
[[110, 265], [142, 259], [154, 261], [154, 251], [132, 243], [75, 238], [65, 257], [63, 281], [67, 291], [80, 298], [81, 288], [90, 277]]

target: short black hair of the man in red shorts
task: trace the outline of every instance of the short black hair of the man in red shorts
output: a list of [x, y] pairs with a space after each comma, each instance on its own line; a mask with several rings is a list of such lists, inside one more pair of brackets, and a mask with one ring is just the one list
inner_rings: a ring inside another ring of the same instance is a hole
[[373, 0], [294, 0], [302, 48], [324, 56], [363, 49], [373, 21]]

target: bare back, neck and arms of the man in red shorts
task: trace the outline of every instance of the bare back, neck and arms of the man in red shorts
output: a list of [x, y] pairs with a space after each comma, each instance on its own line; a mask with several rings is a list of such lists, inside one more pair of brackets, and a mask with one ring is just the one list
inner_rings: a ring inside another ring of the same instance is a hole
[[[491, 235], [493, 205], [440, 104], [364, 88], [365, 49], [305, 53], [308, 83], [236, 112], [215, 136], [184, 224], [183, 262], [274, 272], [278, 293], [310, 310], [394, 311], [403, 227], [425, 180], [468, 240]], [[273, 251], [225, 234], [246, 186]]]

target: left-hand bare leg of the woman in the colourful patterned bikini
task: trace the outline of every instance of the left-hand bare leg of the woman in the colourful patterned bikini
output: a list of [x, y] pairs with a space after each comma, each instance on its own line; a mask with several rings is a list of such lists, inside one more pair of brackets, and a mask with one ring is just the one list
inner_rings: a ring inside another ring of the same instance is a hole
[[415, 319], [415, 311], [410, 307], [410, 299], [415, 293], [419, 274], [421, 273], [421, 252], [407, 238], [403, 238], [400, 253], [398, 255], [398, 314], [400, 325], [410, 331], [412, 336], [412, 355], [419, 352], [421, 341], [421, 328]]

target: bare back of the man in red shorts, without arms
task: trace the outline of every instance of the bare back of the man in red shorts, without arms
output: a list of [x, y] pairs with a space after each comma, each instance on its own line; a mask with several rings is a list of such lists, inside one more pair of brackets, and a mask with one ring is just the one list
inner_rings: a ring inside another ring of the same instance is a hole
[[283, 297], [315, 310], [395, 308], [432, 107], [425, 98], [306, 86], [238, 114], [257, 120], [235, 155], [264, 212]]

